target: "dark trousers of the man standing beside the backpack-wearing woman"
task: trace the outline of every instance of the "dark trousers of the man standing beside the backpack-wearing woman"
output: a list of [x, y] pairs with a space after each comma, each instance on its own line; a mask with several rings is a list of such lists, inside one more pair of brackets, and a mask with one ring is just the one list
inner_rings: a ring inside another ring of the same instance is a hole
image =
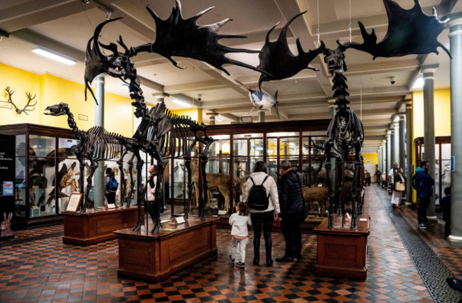
[[286, 256], [294, 257], [301, 254], [301, 216], [302, 212], [284, 214], [281, 230], [286, 241]]

